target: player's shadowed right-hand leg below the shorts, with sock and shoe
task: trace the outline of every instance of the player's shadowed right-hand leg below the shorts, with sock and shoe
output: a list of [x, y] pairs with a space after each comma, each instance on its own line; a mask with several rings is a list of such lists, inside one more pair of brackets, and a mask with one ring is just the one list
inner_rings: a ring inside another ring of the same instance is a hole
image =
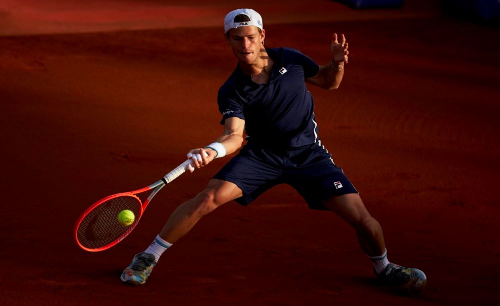
[[359, 194], [333, 196], [323, 205], [345, 220], [355, 230], [361, 249], [373, 262], [375, 275], [388, 285], [395, 285], [410, 293], [423, 290], [425, 274], [412, 268], [389, 263], [383, 240], [382, 228], [366, 210]]

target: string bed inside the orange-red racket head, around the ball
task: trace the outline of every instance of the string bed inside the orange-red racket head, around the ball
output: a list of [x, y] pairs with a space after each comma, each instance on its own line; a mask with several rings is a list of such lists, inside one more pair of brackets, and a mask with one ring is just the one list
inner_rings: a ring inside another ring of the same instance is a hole
[[[125, 209], [132, 211], [135, 216], [130, 226], [118, 221], [118, 214]], [[78, 242], [88, 249], [100, 249], [120, 237], [124, 238], [123, 235], [135, 227], [140, 212], [141, 203], [135, 196], [118, 196], [104, 201], [81, 220], [76, 232]]]

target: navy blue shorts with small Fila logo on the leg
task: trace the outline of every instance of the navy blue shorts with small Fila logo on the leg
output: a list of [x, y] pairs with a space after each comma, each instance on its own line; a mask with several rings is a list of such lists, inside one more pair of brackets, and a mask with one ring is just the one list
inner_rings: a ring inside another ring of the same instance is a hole
[[295, 188], [317, 210], [333, 196], [358, 193], [319, 142], [281, 152], [247, 144], [213, 178], [238, 186], [243, 196], [235, 201], [243, 206], [278, 184]]

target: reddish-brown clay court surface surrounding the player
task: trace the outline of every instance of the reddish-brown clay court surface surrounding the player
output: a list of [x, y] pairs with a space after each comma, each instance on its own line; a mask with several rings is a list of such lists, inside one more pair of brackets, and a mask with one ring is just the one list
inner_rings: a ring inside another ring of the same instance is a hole
[[308, 210], [287, 186], [204, 217], [133, 288], [119, 281], [122, 269], [228, 159], [164, 188], [107, 251], [79, 249], [74, 222], [221, 133], [216, 94], [236, 64], [222, 19], [247, 3], [4, 2], [1, 305], [500, 301], [498, 28], [457, 21], [432, 1], [363, 11], [326, 0], [253, 5], [266, 46], [294, 47], [320, 64], [331, 34], [345, 33], [340, 88], [308, 86], [319, 136], [381, 223], [389, 260], [426, 273], [424, 295], [378, 285], [353, 231]]

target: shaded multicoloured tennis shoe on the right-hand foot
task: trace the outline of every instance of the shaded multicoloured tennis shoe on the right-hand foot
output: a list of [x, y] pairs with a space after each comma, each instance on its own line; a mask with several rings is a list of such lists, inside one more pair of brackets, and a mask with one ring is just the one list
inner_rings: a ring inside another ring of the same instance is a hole
[[421, 292], [427, 283], [427, 277], [422, 271], [396, 264], [388, 264], [380, 274], [375, 272], [375, 275], [384, 284], [398, 287], [410, 294]]

